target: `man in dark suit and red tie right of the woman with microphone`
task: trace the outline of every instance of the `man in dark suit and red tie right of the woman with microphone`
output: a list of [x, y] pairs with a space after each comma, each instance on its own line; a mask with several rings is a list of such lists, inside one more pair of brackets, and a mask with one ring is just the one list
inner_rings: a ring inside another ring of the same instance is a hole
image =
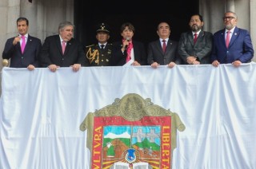
[[170, 26], [166, 22], [158, 24], [157, 30], [159, 39], [152, 41], [148, 45], [147, 62], [152, 68], [158, 65], [168, 65], [173, 68], [176, 64], [181, 64], [178, 57], [178, 42], [170, 40]]

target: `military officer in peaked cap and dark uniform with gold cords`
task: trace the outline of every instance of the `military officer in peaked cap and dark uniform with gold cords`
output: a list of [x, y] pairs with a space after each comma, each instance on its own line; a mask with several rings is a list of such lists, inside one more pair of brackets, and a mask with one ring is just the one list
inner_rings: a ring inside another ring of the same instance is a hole
[[98, 44], [86, 46], [86, 59], [90, 66], [108, 66], [112, 56], [112, 44], [107, 41], [110, 38], [110, 29], [104, 23], [97, 26], [96, 39]]

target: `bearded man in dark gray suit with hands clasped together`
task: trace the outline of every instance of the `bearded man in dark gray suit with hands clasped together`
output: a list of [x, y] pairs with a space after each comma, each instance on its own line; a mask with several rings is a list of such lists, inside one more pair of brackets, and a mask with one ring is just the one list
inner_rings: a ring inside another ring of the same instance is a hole
[[191, 31], [182, 33], [178, 43], [178, 53], [186, 64], [210, 64], [213, 34], [202, 30], [203, 21], [200, 14], [190, 18]]

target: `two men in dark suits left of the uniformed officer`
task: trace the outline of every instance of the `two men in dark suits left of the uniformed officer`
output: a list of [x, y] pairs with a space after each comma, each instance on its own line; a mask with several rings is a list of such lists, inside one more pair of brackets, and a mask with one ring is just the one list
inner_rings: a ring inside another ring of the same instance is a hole
[[86, 66], [82, 44], [73, 38], [74, 26], [62, 22], [58, 26], [58, 35], [46, 37], [44, 44], [37, 37], [28, 34], [29, 21], [17, 20], [18, 36], [6, 41], [2, 59], [10, 59], [10, 67], [28, 68], [48, 67], [55, 72], [58, 67], [72, 67], [76, 72]]

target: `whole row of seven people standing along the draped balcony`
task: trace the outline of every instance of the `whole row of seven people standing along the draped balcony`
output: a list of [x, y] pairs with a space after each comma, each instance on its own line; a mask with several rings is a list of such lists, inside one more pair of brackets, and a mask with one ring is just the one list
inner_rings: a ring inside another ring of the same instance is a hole
[[179, 41], [170, 39], [170, 25], [167, 22], [158, 24], [158, 40], [149, 43], [147, 48], [140, 41], [135, 41], [134, 26], [130, 22], [123, 23], [120, 29], [122, 39], [113, 44], [109, 26], [101, 23], [96, 30], [98, 44], [86, 46], [73, 38], [74, 25], [62, 22], [58, 27], [58, 35], [46, 37], [44, 44], [27, 32], [29, 21], [18, 18], [19, 35], [6, 41], [2, 53], [3, 59], [10, 59], [10, 67], [28, 68], [48, 67], [55, 72], [58, 67], [72, 67], [76, 72], [82, 66], [109, 65], [199, 65], [231, 63], [238, 67], [250, 62], [254, 57], [254, 49], [250, 33], [237, 27], [238, 16], [231, 11], [224, 14], [224, 29], [210, 33], [202, 30], [203, 19], [194, 14], [189, 21], [190, 31], [182, 33]]

